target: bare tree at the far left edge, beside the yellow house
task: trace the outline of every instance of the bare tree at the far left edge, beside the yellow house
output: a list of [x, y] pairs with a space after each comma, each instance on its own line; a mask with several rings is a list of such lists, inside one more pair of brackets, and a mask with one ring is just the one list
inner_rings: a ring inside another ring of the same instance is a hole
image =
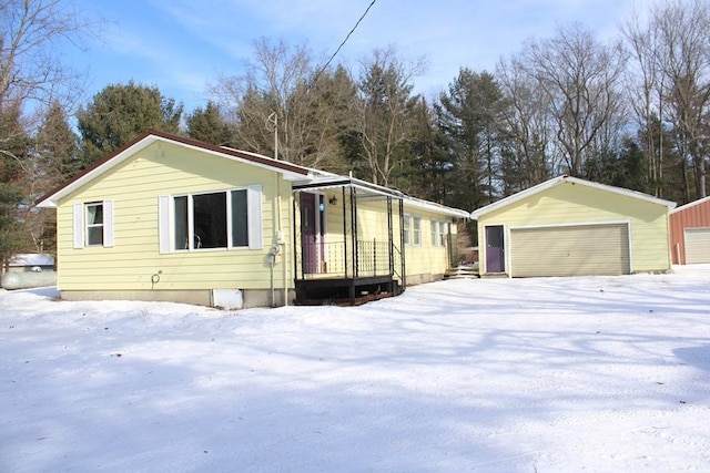
[[[88, 33], [91, 25], [77, 13], [71, 0], [0, 0], [0, 120], [17, 123], [0, 126], [0, 167], [7, 164], [21, 171], [11, 177], [2, 173], [0, 185], [22, 189], [4, 195], [19, 196], [13, 222], [24, 224], [17, 232], [0, 235], [2, 247], [30, 247], [29, 209], [39, 192], [33, 184], [49, 171], [29, 143], [51, 104], [65, 106], [80, 95], [82, 74], [67, 66], [60, 52], [67, 44], [81, 48]], [[4, 205], [8, 209], [11, 203], [6, 200]]]

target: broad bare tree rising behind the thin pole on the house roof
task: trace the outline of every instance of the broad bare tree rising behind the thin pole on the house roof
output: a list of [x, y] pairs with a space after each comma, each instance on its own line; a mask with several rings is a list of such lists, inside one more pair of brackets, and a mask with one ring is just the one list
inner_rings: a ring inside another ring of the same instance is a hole
[[[353, 84], [313, 66], [305, 44], [261, 39], [243, 75], [222, 75], [211, 93], [236, 125], [241, 147], [305, 166], [334, 165], [337, 121]], [[316, 80], [317, 79], [317, 80]]]

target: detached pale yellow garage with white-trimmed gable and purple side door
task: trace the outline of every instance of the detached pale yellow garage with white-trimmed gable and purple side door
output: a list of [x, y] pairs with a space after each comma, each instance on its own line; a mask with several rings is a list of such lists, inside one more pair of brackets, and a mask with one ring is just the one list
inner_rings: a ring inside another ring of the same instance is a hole
[[671, 268], [674, 203], [559, 176], [471, 213], [479, 273], [531, 276], [627, 275]]

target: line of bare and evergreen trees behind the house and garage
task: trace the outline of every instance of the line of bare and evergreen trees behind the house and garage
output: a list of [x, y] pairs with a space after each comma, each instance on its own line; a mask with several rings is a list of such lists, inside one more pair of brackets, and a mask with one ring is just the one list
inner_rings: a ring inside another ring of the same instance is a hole
[[[260, 39], [245, 72], [185, 112], [158, 86], [112, 84], [81, 105], [51, 47], [89, 23], [64, 0], [0, 0], [0, 257], [54, 248], [32, 203], [146, 130], [275, 156], [464, 209], [568, 174], [683, 204], [707, 195], [710, 7], [672, 0], [613, 41], [560, 25], [415, 93], [425, 61], [395, 47], [321, 65], [306, 44]], [[30, 112], [31, 111], [31, 112]], [[71, 123], [75, 123], [74, 126]]]

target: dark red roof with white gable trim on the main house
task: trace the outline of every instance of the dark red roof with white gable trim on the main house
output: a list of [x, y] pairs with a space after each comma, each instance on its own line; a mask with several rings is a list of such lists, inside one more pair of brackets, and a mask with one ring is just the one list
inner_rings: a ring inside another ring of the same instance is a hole
[[49, 192], [44, 196], [40, 197], [36, 202], [38, 207], [54, 208], [59, 204], [59, 200], [72, 193], [77, 188], [87, 184], [97, 176], [108, 172], [109, 169], [121, 164], [123, 161], [131, 157], [136, 152], [150, 146], [155, 142], [178, 143], [186, 147], [200, 150], [216, 156], [221, 156], [227, 160], [237, 162], [250, 163], [260, 167], [268, 167], [273, 171], [280, 172], [284, 175], [284, 178], [290, 181], [302, 179], [311, 173], [311, 169], [295, 164], [287, 163], [285, 161], [274, 160], [256, 153], [248, 153], [239, 150], [232, 150], [224, 146], [217, 146], [210, 143], [204, 143], [197, 140], [192, 140], [185, 136], [178, 136], [171, 133], [149, 131], [138, 136], [132, 142], [128, 143], [123, 147], [114, 151], [101, 161], [98, 161], [92, 166], [84, 169], [82, 173], [74, 176], [72, 179]]

